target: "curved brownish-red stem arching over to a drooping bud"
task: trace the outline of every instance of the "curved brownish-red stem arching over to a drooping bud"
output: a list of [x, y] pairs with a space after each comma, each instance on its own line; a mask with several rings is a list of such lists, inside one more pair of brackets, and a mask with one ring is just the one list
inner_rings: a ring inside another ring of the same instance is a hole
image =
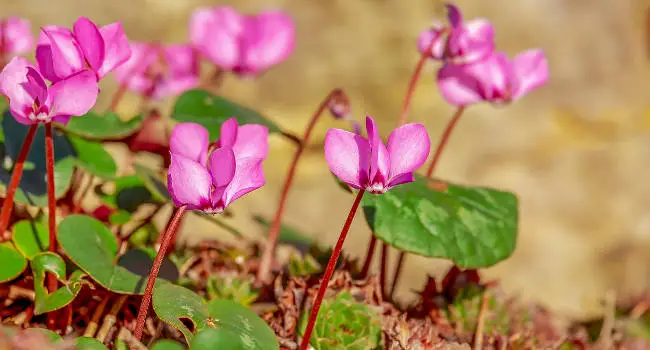
[[282, 194], [280, 195], [280, 202], [278, 203], [278, 209], [275, 212], [275, 218], [273, 219], [273, 223], [269, 228], [269, 232], [267, 235], [268, 236], [267, 243], [266, 246], [264, 247], [264, 252], [262, 253], [259, 269], [257, 270], [258, 282], [268, 282], [269, 278], [271, 277], [270, 276], [271, 265], [273, 264], [275, 247], [277, 246], [278, 237], [280, 235], [280, 226], [282, 225], [282, 214], [284, 213], [284, 205], [286, 203], [287, 195], [289, 194], [289, 189], [291, 188], [291, 184], [293, 183], [294, 175], [296, 174], [296, 169], [298, 167], [298, 161], [300, 160], [300, 156], [302, 156], [302, 153], [305, 151], [305, 146], [309, 141], [309, 136], [311, 135], [311, 132], [314, 129], [314, 126], [316, 125], [316, 122], [323, 114], [325, 109], [329, 106], [330, 100], [340, 95], [341, 93], [342, 91], [340, 89], [334, 89], [327, 95], [327, 97], [323, 100], [323, 102], [321, 102], [321, 104], [318, 106], [318, 109], [316, 109], [316, 112], [311, 117], [311, 120], [307, 125], [307, 129], [305, 130], [305, 134], [302, 137], [301, 142], [298, 144], [296, 153], [294, 154], [293, 160], [291, 161], [291, 165], [289, 166], [289, 172], [287, 173], [287, 177], [284, 180], [284, 186], [282, 187]]

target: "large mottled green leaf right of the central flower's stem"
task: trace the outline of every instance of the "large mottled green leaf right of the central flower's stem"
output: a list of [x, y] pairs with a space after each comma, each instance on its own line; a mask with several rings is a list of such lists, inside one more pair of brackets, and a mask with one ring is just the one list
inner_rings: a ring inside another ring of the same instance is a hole
[[492, 266], [515, 249], [517, 197], [484, 187], [416, 181], [362, 200], [377, 238], [463, 268]]

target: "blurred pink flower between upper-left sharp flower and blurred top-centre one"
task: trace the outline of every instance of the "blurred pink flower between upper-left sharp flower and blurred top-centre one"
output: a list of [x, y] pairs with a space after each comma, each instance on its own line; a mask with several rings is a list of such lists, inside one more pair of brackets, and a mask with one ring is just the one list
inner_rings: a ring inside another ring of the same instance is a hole
[[131, 52], [131, 58], [115, 70], [115, 77], [133, 91], [161, 99], [199, 85], [199, 61], [189, 45], [133, 42]]

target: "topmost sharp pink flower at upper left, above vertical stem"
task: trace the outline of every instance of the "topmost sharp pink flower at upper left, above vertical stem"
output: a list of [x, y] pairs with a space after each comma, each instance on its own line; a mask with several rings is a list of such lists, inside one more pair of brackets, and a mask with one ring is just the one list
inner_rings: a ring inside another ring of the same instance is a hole
[[90, 68], [97, 80], [126, 62], [131, 56], [129, 41], [120, 22], [98, 28], [80, 17], [71, 31], [47, 26], [41, 30], [36, 60], [43, 76], [52, 82]]

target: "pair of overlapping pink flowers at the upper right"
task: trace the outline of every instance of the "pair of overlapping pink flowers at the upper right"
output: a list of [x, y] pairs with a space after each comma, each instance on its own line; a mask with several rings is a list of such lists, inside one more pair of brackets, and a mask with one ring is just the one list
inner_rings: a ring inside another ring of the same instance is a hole
[[440, 60], [438, 86], [451, 104], [512, 102], [548, 81], [548, 63], [539, 49], [514, 59], [494, 50], [494, 28], [484, 19], [464, 22], [458, 8], [447, 5], [449, 25], [434, 23], [420, 34], [420, 52]]

